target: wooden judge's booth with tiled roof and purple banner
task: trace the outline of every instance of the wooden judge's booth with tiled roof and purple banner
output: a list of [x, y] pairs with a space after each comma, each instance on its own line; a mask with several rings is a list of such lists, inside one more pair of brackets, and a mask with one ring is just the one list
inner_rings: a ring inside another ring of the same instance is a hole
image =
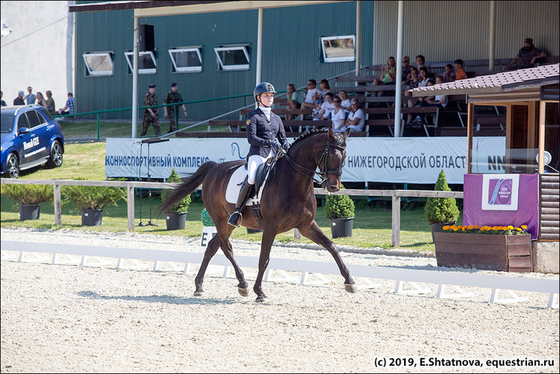
[[559, 272], [559, 77], [557, 63], [412, 91], [465, 95], [463, 223], [527, 225], [535, 272]]

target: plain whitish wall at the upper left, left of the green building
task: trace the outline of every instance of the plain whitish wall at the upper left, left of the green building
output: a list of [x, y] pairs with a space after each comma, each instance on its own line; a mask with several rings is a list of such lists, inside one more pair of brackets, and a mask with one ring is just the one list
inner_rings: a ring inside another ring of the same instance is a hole
[[3, 100], [12, 105], [17, 91], [27, 94], [31, 86], [34, 94], [52, 91], [56, 109], [64, 107], [73, 84], [67, 80], [68, 2], [1, 1], [1, 17], [12, 30], [0, 45]]

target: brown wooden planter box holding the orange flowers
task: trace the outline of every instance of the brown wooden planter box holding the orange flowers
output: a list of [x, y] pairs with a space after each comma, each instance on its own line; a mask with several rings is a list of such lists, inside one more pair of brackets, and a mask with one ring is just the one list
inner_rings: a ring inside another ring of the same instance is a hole
[[438, 266], [533, 271], [531, 236], [434, 232]]

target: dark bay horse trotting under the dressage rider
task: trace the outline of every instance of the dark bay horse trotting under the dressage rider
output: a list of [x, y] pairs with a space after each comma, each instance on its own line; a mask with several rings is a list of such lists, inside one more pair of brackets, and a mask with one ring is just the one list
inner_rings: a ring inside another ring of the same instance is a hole
[[[298, 137], [284, 157], [276, 164], [276, 175], [262, 192], [260, 206], [262, 210], [262, 241], [260, 245], [260, 258], [258, 261], [258, 276], [253, 287], [257, 294], [256, 301], [264, 301], [267, 296], [262, 292], [262, 277], [267, 270], [270, 250], [274, 238], [280, 232], [287, 232], [297, 228], [300, 233], [315, 243], [322, 245], [331, 253], [344, 277], [344, 287], [348, 292], [357, 292], [352, 276], [342, 261], [335, 244], [329, 240], [315, 223], [317, 201], [313, 192], [313, 177], [321, 177], [321, 187], [328, 192], [337, 192], [340, 189], [340, 176], [342, 164], [346, 158], [346, 137], [349, 131], [335, 133], [328, 129], [311, 130]], [[216, 236], [208, 243], [204, 258], [194, 280], [196, 291], [194, 296], [203, 293], [202, 283], [206, 268], [212, 256], [219, 247], [232, 263], [236, 277], [239, 281], [238, 292], [248, 296], [248, 285], [243, 271], [234, 259], [234, 252], [229, 236], [234, 227], [227, 224], [229, 214], [234, 211], [234, 204], [225, 201], [225, 190], [229, 177], [234, 170], [243, 165], [243, 161], [231, 161], [216, 164], [205, 162], [194, 174], [177, 186], [170, 197], [160, 206], [165, 210], [175, 205], [178, 201], [190, 195], [202, 184], [202, 199], [208, 214], [216, 225]], [[316, 173], [317, 166], [320, 173]], [[251, 206], [245, 206], [242, 212], [242, 225], [247, 228], [259, 229], [258, 219], [252, 212]]]

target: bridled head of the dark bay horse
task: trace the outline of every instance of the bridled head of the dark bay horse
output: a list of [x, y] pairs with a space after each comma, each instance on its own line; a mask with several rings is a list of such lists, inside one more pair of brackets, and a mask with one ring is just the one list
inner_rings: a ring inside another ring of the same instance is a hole
[[344, 133], [335, 133], [330, 128], [328, 129], [328, 143], [317, 163], [322, 179], [324, 179], [321, 187], [328, 192], [337, 192], [340, 189], [340, 176], [344, 159], [346, 159], [346, 137], [348, 135], [350, 135], [350, 129]]

